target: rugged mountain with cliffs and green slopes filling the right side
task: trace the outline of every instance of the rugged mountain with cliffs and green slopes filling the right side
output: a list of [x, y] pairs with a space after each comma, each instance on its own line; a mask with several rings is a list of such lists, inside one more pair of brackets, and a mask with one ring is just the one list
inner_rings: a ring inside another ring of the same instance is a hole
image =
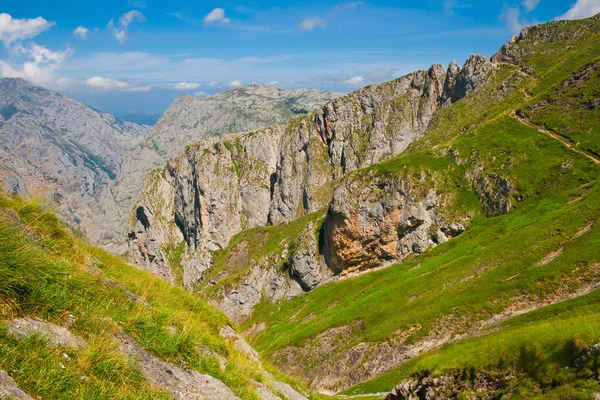
[[131, 260], [315, 392], [594, 398], [599, 39], [536, 25], [188, 145], [144, 180]]

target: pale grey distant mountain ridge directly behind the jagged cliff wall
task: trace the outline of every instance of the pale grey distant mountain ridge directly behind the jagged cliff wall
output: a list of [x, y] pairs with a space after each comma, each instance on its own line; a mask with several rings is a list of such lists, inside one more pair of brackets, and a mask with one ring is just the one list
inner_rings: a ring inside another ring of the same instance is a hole
[[[128, 153], [113, 188], [120, 210], [128, 215], [144, 176], [164, 166], [185, 146], [226, 133], [285, 124], [294, 115], [306, 114], [338, 96], [319, 90], [250, 85], [204, 98], [178, 97], [148, 136]], [[125, 227], [126, 222], [124, 217], [115, 224]]]

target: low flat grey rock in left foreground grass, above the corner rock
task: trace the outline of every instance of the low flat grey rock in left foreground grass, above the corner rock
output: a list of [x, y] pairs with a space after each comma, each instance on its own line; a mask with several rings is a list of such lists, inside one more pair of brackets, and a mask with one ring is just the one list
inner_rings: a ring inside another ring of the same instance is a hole
[[78, 350], [87, 346], [85, 340], [73, 335], [68, 329], [48, 322], [31, 318], [17, 318], [6, 322], [5, 325], [8, 334], [17, 339], [22, 340], [32, 335], [40, 335], [47, 339], [48, 344], [53, 348], [66, 346]]

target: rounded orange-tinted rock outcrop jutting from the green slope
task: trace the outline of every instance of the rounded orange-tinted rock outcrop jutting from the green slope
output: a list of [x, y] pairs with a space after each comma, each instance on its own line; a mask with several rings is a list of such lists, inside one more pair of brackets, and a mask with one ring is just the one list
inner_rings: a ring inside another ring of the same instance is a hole
[[435, 173], [423, 171], [416, 182], [405, 175], [371, 169], [336, 188], [323, 229], [324, 254], [335, 273], [421, 254], [466, 229], [467, 215], [447, 217], [453, 197], [438, 187]]

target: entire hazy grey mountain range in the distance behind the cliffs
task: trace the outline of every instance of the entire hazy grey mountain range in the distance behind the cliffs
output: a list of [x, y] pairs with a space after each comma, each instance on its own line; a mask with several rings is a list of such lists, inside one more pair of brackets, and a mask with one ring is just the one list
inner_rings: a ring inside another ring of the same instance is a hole
[[126, 221], [143, 176], [189, 143], [285, 123], [337, 94], [248, 86], [181, 96], [150, 128], [121, 121], [22, 79], [0, 80], [2, 185], [43, 196], [92, 242], [126, 251]]

